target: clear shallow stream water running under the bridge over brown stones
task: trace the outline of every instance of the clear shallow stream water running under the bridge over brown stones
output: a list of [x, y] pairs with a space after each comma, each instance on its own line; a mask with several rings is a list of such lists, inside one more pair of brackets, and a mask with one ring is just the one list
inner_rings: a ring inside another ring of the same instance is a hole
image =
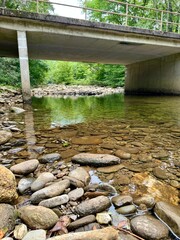
[[64, 162], [80, 152], [121, 150], [131, 157], [122, 159], [119, 170], [89, 168], [93, 183], [108, 182], [118, 192], [179, 202], [179, 97], [33, 98], [32, 107], [12, 114], [11, 120], [22, 129], [15, 138], [27, 140], [26, 148], [13, 154], [15, 160], [36, 158], [41, 148], [61, 153]]

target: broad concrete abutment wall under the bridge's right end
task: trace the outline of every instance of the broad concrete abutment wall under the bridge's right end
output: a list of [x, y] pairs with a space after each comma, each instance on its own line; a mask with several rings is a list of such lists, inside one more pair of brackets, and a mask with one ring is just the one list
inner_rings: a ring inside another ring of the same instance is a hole
[[180, 95], [180, 54], [128, 65], [125, 93]]

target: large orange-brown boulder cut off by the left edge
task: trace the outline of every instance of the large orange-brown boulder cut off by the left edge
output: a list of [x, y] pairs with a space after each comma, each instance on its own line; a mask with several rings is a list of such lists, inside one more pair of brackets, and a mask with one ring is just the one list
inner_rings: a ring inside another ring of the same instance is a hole
[[18, 197], [15, 176], [2, 165], [0, 165], [0, 173], [0, 202], [11, 203]]

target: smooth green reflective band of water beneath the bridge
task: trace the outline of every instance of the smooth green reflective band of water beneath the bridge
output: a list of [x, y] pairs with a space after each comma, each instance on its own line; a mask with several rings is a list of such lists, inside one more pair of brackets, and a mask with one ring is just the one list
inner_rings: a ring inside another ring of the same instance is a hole
[[33, 98], [34, 120], [44, 127], [114, 119], [180, 124], [179, 97], [142, 97], [122, 94], [103, 97]]

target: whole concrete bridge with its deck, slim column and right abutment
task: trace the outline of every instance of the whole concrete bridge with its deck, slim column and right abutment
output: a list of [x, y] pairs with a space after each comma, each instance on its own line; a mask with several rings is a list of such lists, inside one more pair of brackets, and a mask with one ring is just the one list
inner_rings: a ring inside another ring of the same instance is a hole
[[0, 8], [0, 57], [19, 57], [24, 101], [28, 59], [123, 64], [125, 92], [180, 94], [180, 34]]

